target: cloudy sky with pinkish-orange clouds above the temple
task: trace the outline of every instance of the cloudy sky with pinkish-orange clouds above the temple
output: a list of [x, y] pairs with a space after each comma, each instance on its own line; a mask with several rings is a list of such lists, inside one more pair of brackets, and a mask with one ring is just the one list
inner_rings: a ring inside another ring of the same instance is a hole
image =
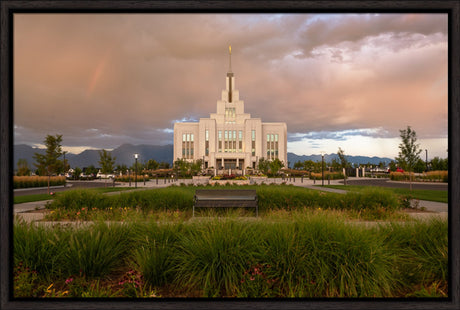
[[447, 14], [15, 14], [14, 143], [171, 144], [216, 110], [286, 122], [288, 152], [447, 157]]

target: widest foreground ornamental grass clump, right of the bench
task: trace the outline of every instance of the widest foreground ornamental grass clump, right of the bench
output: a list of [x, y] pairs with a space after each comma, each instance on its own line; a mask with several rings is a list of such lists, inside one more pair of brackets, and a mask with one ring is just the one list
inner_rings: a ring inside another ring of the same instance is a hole
[[262, 261], [271, 266], [281, 296], [388, 296], [391, 255], [383, 238], [337, 217], [299, 215], [293, 223], [264, 229]]

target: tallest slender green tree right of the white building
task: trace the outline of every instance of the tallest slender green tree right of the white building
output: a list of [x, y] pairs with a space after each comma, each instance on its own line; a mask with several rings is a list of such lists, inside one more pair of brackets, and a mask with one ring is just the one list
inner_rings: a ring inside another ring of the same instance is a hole
[[407, 129], [400, 130], [400, 136], [402, 142], [399, 144], [399, 156], [396, 158], [397, 162], [403, 169], [409, 171], [409, 188], [412, 190], [412, 171], [414, 170], [415, 164], [420, 159], [420, 145], [416, 144], [417, 134], [410, 126]]

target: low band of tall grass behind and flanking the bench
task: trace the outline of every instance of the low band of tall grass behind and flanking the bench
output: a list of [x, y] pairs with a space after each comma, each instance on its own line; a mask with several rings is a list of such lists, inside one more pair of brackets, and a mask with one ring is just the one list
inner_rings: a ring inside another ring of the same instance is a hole
[[[63, 210], [82, 212], [85, 215], [91, 210], [129, 209], [137, 210], [144, 215], [156, 211], [190, 211], [193, 207], [195, 190], [199, 188], [214, 187], [172, 186], [121, 192], [111, 196], [90, 190], [70, 190], [60, 193], [49, 208], [59, 211], [53, 216], [60, 215]], [[234, 187], [225, 186], [225, 188]], [[378, 219], [385, 218], [402, 207], [397, 195], [374, 187], [345, 195], [287, 185], [260, 185], [245, 188], [256, 189], [259, 212], [262, 214], [280, 209], [291, 211], [320, 208], [349, 210], [364, 219]]]

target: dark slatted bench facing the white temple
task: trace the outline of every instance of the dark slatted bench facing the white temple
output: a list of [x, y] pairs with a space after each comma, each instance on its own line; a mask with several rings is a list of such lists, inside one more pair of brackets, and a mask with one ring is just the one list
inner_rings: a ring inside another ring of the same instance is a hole
[[193, 203], [195, 208], [255, 208], [259, 216], [256, 190], [253, 189], [197, 189]]

